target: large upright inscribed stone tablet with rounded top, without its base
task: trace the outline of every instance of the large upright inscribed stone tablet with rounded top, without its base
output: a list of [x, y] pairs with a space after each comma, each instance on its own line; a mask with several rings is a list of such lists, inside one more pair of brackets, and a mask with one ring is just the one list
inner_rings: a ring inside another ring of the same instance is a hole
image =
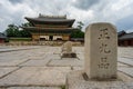
[[85, 72], [90, 79], [116, 78], [117, 33], [111, 23], [92, 23], [85, 30]]

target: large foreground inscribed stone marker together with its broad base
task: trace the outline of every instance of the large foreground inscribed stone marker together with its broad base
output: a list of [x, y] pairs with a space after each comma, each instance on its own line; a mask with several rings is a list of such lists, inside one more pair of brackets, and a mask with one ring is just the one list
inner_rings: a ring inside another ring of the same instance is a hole
[[133, 79], [116, 71], [117, 33], [114, 26], [106, 22], [90, 24], [85, 30], [84, 47], [85, 69], [68, 73], [66, 89], [133, 89]]

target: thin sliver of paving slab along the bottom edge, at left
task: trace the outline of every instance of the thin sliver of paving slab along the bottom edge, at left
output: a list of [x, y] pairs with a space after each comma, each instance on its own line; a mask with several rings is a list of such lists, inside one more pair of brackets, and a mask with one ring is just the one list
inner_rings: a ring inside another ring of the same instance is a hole
[[61, 88], [60, 87], [11, 87], [8, 89], [61, 89]]

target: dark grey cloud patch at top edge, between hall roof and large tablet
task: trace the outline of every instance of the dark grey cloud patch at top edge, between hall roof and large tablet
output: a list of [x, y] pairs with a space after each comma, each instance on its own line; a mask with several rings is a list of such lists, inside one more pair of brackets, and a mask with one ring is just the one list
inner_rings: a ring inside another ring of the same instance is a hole
[[74, 6], [79, 9], [82, 9], [82, 10], [88, 10], [90, 9], [92, 6], [99, 3], [100, 0], [76, 0], [74, 1]]

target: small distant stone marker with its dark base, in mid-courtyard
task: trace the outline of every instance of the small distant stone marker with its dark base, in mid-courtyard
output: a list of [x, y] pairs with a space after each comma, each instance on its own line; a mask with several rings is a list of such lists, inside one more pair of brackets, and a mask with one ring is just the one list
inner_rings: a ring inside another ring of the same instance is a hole
[[66, 41], [63, 46], [62, 46], [62, 58], [76, 58], [76, 53], [72, 52], [72, 42], [71, 41]]

